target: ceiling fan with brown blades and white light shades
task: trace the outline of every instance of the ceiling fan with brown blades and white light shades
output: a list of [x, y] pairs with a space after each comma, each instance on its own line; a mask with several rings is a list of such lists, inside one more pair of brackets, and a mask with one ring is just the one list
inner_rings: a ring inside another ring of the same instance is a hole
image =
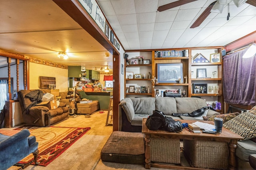
[[[175, 2], [172, 2], [170, 4], [166, 4], [163, 6], [159, 6], [158, 7], [158, 11], [162, 12], [165, 10], [169, 10], [171, 8], [175, 8], [177, 6], [181, 6], [184, 4], [188, 4], [190, 2], [194, 2], [196, 0], [178, 0]], [[256, 7], [256, 1], [255, 0], [217, 0], [212, 2], [207, 8], [206, 10], [204, 10], [204, 12], [198, 17], [198, 19], [191, 25], [190, 28], [195, 28], [198, 27], [206, 18], [207, 16], [211, 13], [211, 12], [217, 12], [217, 13], [222, 13], [225, 5], [229, 4], [230, 2], [234, 2], [234, 4], [239, 7], [242, 4], [244, 4], [244, 2], [246, 2], [247, 4], [250, 4], [252, 6]], [[228, 18], [229, 19], [229, 13], [228, 13]]]

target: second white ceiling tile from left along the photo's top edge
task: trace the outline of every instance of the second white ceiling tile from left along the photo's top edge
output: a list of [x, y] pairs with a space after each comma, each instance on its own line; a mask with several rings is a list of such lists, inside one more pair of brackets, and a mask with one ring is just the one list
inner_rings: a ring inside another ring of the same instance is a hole
[[116, 15], [136, 14], [134, 0], [115, 0], [111, 4]]

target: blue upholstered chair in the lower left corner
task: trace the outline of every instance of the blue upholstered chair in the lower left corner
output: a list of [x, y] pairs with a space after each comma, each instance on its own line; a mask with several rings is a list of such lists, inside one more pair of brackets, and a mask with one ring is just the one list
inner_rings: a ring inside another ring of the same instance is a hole
[[0, 130], [0, 170], [10, 168], [31, 153], [34, 155], [34, 160], [19, 166], [26, 168], [32, 162], [38, 165], [40, 162], [37, 162], [38, 142], [36, 142], [36, 137], [30, 137], [28, 129], [18, 131], [14, 135], [11, 131]]

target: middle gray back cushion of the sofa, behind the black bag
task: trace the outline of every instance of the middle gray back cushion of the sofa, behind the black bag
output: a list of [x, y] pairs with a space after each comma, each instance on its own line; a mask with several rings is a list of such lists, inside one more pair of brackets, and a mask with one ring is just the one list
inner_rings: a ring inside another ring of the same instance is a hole
[[156, 110], [162, 111], [165, 115], [177, 113], [175, 98], [156, 98]]

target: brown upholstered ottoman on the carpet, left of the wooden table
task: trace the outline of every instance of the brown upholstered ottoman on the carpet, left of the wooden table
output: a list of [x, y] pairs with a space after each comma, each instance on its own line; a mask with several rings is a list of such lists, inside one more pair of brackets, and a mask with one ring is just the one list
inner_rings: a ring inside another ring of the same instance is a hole
[[144, 134], [114, 131], [102, 148], [100, 158], [106, 162], [144, 164]]

